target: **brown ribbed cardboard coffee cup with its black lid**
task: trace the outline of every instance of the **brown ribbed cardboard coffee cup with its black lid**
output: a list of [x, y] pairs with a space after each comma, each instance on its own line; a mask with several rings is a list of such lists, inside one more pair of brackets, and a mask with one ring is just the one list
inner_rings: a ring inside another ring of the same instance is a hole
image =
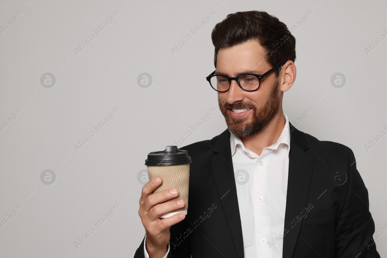
[[147, 165], [149, 181], [152, 181], [156, 176], [160, 176], [163, 179], [161, 185], [152, 193], [176, 188], [179, 191], [179, 195], [166, 200], [166, 202], [180, 199], [183, 199], [185, 202], [184, 207], [163, 214], [160, 218], [171, 217], [179, 212], [184, 212], [187, 215], [191, 162], [191, 157], [188, 156], [187, 150], [179, 150], [177, 146], [167, 146], [165, 150], [148, 154], [145, 165]]

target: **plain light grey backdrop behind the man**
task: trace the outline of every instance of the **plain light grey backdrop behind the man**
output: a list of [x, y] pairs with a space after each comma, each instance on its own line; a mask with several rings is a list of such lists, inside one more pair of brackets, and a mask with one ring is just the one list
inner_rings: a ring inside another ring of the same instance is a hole
[[[23, 12], [0, 35], [0, 122], [22, 108], [0, 132], [0, 219], [23, 205], [0, 229], [0, 256], [133, 257], [145, 234], [137, 173], [147, 154], [175, 145], [212, 106], [211, 119], [184, 145], [226, 129], [205, 80], [214, 70], [211, 31], [227, 14], [246, 10], [264, 10], [288, 27], [313, 11], [294, 32], [297, 78], [284, 94], [284, 112], [295, 122], [311, 106], [297, 128], [353, 150], [375, 228], [387, 229], [387, 136], [365, 149], [387, 132], [387, 39], [365, 51], [387, 36], [386, 9], [380, 0], [0, 1], [0, 26]], [[77, 55], [74, 48], [115, 10], [113, 24]], [[193, 35], [211, 10], [210, 23]], [[188, 33], [192, 39], [173, 55]], [[47, 72], [57, 80], [50, 89], [40, 83]], [[143, 72], [153, 78], [147, 89], [137, 85]], [[341, 89], [330, 84], [336, 72], [347, 79]], [[96, 132], [115, 107], [113, 120]], [[96, 135], [77, 152], [74, 145], [91, 130]], [[46, 169], [56, 174], [52, 185], [41, 181]], [[113, 217], [77, 249], [74, 241], [115, 203]], [[384, 233], [376, 241], [382, 257], [386, 243]]]

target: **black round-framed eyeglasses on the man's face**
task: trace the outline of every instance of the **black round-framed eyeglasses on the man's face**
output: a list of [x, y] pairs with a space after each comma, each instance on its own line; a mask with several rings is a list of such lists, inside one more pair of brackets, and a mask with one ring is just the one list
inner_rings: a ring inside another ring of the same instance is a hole
[[216, 70], [215, 70], [210, 75], [208, 75], [206, 79], [210, 83], [212, 89], [214, 89], [217, 92], [228, 91], [231, 85], [231, 80], [236, 80], [236, 83], [244, 91], [256, 91], [261, 84], [261, 80], [267, 75], [269, 75], [270, 73], [277, 70], [281, 66], [282, 65], [277, 65], [276, 67], [273, 67], [272, 69], [265, 72], [264, 74], [247, 73], [247, 74], [238, 75], [238, 77], [227, 77], [224, 75], [216, 75], [215, 74]]

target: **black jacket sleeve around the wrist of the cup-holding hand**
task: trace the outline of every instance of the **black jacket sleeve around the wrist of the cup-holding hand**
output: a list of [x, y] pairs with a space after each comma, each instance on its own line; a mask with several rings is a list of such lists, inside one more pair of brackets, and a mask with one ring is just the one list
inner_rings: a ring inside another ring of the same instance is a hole
[[[166, 258], [191, 258], [190, 237], [187, 226], [187, 216], [170, 228], [171, 239]], [[145, 237], [137, 248], [134, 258], [146, 258]]]

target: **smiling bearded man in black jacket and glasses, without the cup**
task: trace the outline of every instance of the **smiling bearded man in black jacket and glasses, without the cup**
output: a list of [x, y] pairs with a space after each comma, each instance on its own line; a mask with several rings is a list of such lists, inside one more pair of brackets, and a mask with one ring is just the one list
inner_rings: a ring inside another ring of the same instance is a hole
[[300, 132], [283, 113], [296, 79], [286, 25], [237, 12], [211, 36], [216, 70], [207, 81], [228, 129], [180, 148], [192, 158], [187, 216], [159, 219], [184, 205], [165, 202], [176, 189], [152, 194], [161, 178], [142, 188], [146, 237], [135, 257], [380, 257], [352, 150]]

